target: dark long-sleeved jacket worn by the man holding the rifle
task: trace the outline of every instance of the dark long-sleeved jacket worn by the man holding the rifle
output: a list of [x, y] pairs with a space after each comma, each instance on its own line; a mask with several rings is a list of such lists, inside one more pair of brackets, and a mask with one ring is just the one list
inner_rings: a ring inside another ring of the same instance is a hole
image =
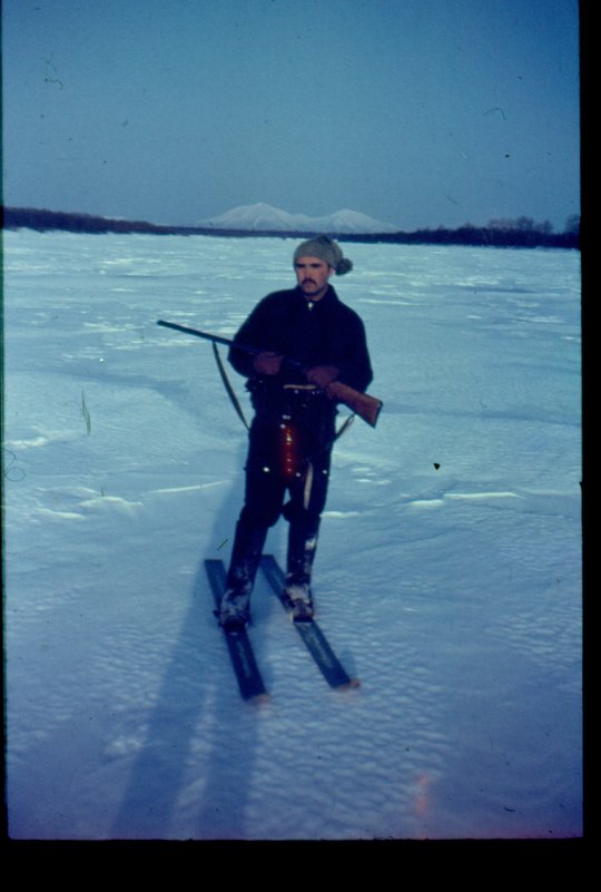
[[[365, 391], [373, 378], [363, 322], [332, 286], [315, 302], [307, 301], [298, 287], [268, 294], [234, 340], [299, 364], [298, 369], [283, 366], [268, 381], [269, 388], [303, 383], [303, 366], [335, 365], [341, 370], [338, 381], [359, 391]], [[256, 379], [253, 361], [254, 356], [235, 347], [229, 352], [229, 362], [245, 378]]]

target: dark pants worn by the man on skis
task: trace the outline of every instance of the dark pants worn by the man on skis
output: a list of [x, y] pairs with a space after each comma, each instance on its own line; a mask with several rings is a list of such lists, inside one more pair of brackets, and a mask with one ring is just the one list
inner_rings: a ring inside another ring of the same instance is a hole
[[290, 394], [276, 411], [255, 416], [228, 588], [250, 595], [267, 532], [279, 517], [289, 522], [288, 581], [308, 585], [335, 437], [335, 413], [326, 399]]

